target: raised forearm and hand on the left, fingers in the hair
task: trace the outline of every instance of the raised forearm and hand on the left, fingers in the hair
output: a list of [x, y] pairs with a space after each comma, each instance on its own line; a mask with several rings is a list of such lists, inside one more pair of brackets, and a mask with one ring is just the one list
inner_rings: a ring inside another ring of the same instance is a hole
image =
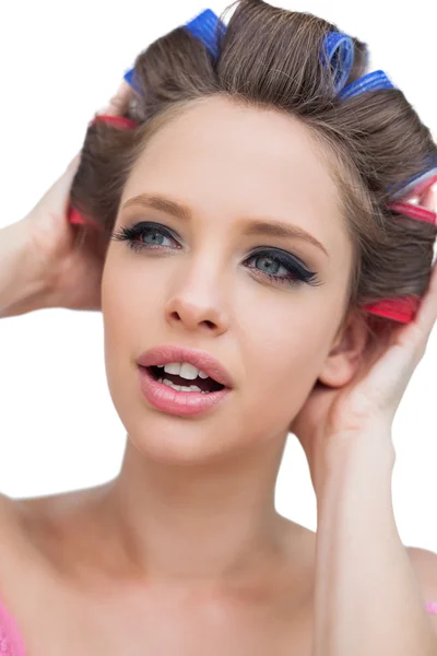
[[[102, 112], [121, 114], [132, 97], [122, 80]], [[66, 215], [80, 155], [25, 219], [0, 229], [0, 318], [44, 307], [101, 308], [108, 237], [85, 233], [83, 248], [76, 247], [75, 229]]]

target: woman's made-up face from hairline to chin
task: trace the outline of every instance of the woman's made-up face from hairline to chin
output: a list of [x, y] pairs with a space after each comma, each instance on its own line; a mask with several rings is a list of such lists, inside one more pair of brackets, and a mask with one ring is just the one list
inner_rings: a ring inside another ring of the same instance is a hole
[[[108, 385], [130, 438], [153, 458], [193, 462], [284, 436], [332, 348], [352, 267], [307, 128], [221, 97], [193, 103], [128, 179], [114, 230], [140, 222], [134, 248], [111, 241], [102, 289]], [[189, 415], [156, 406], [138, 360], [162, 345], [214, 358], [231, 389]]]

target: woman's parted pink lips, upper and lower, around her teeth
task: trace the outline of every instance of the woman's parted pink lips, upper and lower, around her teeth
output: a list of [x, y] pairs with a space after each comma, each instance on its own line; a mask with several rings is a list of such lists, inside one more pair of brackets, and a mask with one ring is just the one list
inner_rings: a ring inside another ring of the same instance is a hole
[[[172, 389], [155, 380], [146, 368], [169, 362], [192, 364], [225, 387], [210, 394]], [[140, 371], [140, 387], [145, 399], [157, 410], [178, 417], [196, 417], [209, 412], [227, 397], [234, 386], [226, 370], [204, 351], [170, 345], [158, 347], [143, 353], [137, 363]]]

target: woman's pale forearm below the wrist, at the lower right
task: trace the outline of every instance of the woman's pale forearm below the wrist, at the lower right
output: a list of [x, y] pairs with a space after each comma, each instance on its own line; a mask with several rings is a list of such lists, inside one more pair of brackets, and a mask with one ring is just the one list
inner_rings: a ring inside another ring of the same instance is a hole
[[[437, 656], [391, 500], [390, 438], [368, 431], [338, 454], [318, 501], [316, 656]], [[436, 570], [437, 571], [437, 570]]]

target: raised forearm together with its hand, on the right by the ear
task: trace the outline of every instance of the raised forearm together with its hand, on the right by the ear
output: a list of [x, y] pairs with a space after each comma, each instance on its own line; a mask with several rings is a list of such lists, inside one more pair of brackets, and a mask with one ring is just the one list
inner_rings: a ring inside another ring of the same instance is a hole
[[437, 263], [410, 324], [368, 339], [358, 319], [355, 347], [343, 335], [349, 371], [345, 359], [343, 379], [315, 386], [293, 421], [317, 495], [312, 656], [437, 656], [435, 559], [421, 578], [391, 497], [393, 420], [436, 321]]

